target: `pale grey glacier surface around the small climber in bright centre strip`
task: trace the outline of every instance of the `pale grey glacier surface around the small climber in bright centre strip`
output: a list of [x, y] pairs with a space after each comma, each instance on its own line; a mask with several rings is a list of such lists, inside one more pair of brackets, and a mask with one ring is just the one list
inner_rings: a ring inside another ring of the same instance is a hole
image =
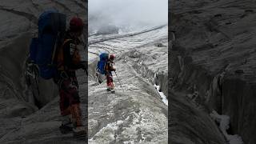
[[[106, 91], [106, 81], [98, 83], [101, 51], [117, 54], [124, 91], [115, 74], [115, 94]], [[167, 51], [167, 26], [89, 46], [89, 143], [167, 143], [168, 106], [154, 87], [156, 73], [167, 76]]]

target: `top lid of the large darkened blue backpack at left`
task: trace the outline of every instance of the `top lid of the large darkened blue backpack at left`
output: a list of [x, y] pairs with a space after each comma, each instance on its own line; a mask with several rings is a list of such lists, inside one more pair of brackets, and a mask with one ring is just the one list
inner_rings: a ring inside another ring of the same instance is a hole
[[43, 34], [46, 28], [50, 29], [53, 34], [65, 31], [66, 15], [59, 13], [58, 10], [46, 10], [38, 18], [38, 35]]

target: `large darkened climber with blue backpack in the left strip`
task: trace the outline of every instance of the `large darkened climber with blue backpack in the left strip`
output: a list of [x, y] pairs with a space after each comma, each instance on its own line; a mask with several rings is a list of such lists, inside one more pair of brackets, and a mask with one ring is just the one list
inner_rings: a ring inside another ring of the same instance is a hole
[[27, 74], [34, 78], [52, 78], [58, 84], [62, 115], [59, 128], [62, 134], [73, 131], [75, 137], [86, 136], [75, 75], [75, 70], [86, 70], [87, 67], [78, 50], [83, 29], [81, 18], [71, 18], [66, 31], [65, 14], [57, 10], [42, 13], [38, 18], [38, 37], [32, 39], [27, 59], [27, 66], [30, 66]]

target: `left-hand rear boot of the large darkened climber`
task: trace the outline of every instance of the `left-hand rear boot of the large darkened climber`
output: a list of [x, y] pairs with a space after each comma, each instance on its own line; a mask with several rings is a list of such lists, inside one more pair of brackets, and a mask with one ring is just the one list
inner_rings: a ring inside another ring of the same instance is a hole
[[59, 130], [62, 134], [70, 133], [73, 130], [71, 115], [62, 116], [62, 125], [59, 126]]

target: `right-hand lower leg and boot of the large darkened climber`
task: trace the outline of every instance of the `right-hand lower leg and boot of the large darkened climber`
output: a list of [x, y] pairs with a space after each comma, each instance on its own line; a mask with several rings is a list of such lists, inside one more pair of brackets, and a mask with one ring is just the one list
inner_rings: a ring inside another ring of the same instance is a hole
[[74, 123], [73, 136], [76, 138], [86, 138], [86, 127], [82, 125], [82, 112], [79, 104], [71, 106], [71, 114]]

